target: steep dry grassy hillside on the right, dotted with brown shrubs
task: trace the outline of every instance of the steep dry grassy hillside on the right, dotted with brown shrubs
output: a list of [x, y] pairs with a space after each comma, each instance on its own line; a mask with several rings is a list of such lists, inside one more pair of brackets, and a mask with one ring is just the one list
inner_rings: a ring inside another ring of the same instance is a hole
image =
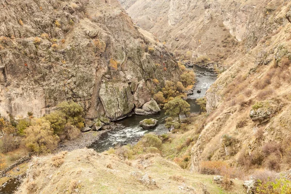
[[277, 2], [264, 17], [264, 26], [275, 30], [228, 59], [230, 67], [208, 90], [209, 115], [192, 149], [193, 170], [208, 160], [290, 169], [291, 3]]

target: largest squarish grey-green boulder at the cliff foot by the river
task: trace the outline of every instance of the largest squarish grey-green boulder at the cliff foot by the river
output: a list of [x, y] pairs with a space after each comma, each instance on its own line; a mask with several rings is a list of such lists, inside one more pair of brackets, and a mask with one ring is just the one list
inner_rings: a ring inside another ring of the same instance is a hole
[[134, 108], [128, 83], [115, 81], [102, 83], [99, 97], [106, 116], [112, 121], [126, 117]]

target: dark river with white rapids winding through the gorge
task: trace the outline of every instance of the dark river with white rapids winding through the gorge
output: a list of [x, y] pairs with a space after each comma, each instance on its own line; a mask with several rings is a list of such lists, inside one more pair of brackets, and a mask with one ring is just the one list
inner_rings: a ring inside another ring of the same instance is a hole
[[[200, 111], [200, 106], [196, 104], [196, 99], [200, 97], [204, 97], [206, 91], [210, 87], [210, 85], [216, 80], [216, 75], [204, 68], [200, 68], [194, 66], [194, 72], [196, 74], [196, 82], [194, 87], [194, 94], [188, 96], [187, 102], [190, 104], [190, 112], [198, 113]], [[201, 90], [201, 93], [197, 93], [197, 90]], [[155, 132], [157, 134], [163, 134], [168, 131], [164, 127], [164, 119], [167, 116], [164, 114], [162, 110], [158, 114], [148, 115], [148, 116], [140, 116], [133, 114], [123, 120], [117, 121], [116, 123], [122, 124], [121, 129], [114, 129], [103, 133], [99, 140], [94, 142], [89, 148], [94, 148], [97, 152], [102, 152], [107, 150], [110, 147], [114, 147], [117, 145], [126, 145], [131, 144], [140, 139], [145, 133]], [[144, 130], [139, 126], [139, 122], [146, 118], [154, 118], [158, 120], [158, 125], [155, 129]]]

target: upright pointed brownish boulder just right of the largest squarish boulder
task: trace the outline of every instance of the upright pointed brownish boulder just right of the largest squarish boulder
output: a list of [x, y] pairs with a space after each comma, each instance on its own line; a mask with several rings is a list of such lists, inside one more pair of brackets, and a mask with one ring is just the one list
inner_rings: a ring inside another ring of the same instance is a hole
[[136, 108], [140, 108], [151, 99], [151, 93], [146, 87], [144, 80], [140, 81], [133, 95], [133, 102]]

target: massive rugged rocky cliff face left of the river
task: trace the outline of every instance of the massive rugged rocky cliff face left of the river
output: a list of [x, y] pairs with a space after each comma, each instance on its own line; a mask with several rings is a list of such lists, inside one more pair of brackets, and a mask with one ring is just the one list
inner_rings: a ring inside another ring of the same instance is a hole
[[73, 99], [88, 118], [116, 120], [150, 100], [135, 97], [140, 81], [148, 92], [152, 79], [179, 76], [171, 54], [116, 0], [0, 0], [0, 23], [3, 116], [40, 116]]

